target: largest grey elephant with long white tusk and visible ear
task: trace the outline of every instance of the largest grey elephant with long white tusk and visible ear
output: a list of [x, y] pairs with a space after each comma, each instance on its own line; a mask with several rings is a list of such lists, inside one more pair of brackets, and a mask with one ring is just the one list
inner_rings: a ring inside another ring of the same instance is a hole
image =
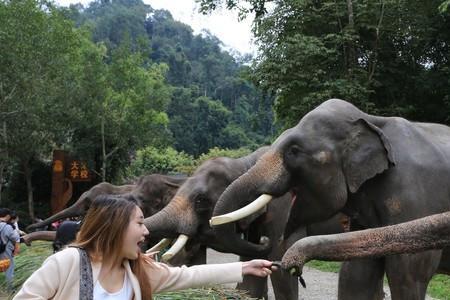
[[[234, 223], [219, 224], [236, 221], [233, 211], [251, 199], [260, 196], [252, 203], [258, 209], [271, 199], [267, 195], [291, 191], [296, 200], [285, 237], [340, 211], [352, 217], [352, 230], [383, 227], [449, 211], [449, 181], [449, 127], [369, 115], [346, 101], [331, 99], [284, 131], [226, 189], [211, 224], [236, 251], [259, 246], [235, 235]], [[242, 210], [247, 208], [239, 214]], [[443, 252], [446, 249], [345, 262], [338, 298], [381, 298], [386, 274], [393, 299], [424, 299]]]

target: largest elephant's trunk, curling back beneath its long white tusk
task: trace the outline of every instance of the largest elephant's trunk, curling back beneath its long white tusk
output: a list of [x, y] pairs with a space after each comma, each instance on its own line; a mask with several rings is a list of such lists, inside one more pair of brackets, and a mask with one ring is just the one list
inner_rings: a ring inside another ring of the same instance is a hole
[[[272, 164], [261, 163], [269, 161]], [[267, 183], [267, 180], [277, 181], [281, 158], [273, 152], [265, 153], [260, 161], [253, 166], [247, 173], [240, 176], [224, 191], [217, 201], [213, 216], [223, 215], [239, 209], [240, 207], [252, 202], [262, 194], [261, 183]], [[269, 175], [270, 174], [270, 175]], [[275, 175], [274, 175], [275, 174]], [[264, 184], [262, 185], [264, 186]], [[214, 227], [214, 232], [220, 240], [223, 241], [228, 251], [243, 256], [266, 255], [271, 248], [271, 242], [266, 244], [255, 244], [241, 239], [236, 233], [235, 223], [222, 224]]]

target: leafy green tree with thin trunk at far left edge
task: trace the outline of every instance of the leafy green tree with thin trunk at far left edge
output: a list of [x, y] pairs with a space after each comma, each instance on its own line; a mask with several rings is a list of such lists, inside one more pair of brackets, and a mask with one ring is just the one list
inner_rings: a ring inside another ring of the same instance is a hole
[[0, 23], [0, 149], [21, 166], [34, 218], [32, 163], [68, 137], [80, 34], [44, 1], [2, 1]]

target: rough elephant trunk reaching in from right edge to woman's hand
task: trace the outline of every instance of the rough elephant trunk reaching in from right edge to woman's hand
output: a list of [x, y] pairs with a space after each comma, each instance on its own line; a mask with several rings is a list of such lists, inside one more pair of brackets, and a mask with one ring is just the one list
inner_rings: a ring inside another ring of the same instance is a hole
[[376, 258], [447, 246], [450, 246], [450, 212], [386, 227], [306, 237], [288, 249], [282, 266], [301, 274], [303, 265], [313, 259]]

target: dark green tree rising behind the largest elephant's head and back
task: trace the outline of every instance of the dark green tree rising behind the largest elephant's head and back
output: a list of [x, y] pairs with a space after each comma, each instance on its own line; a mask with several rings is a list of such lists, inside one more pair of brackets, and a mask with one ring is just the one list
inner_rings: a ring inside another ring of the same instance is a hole
[[[200, 2], [208, 11], [225, 1]], [[226, 1], [258, 14], [254, 81], [276, 95], [284, 126], [330, 97], [367, 112], [448, 122], [446, 2], [283, 0], [267, 12], [268, 2]]]

